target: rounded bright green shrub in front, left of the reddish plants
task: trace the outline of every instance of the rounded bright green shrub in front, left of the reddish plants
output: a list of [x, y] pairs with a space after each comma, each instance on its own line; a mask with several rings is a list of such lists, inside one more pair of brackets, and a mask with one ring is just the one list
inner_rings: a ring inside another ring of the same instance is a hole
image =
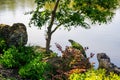
[[41, 60], [41, 56], [33, 59], [29, 64], [23, 66], [19, 70], [19, 75], [23, 78], [29, 78], [32, 80], [46, 80], [49, 77], [48, 73], [52, 69], [48, 63], [42, 62]]

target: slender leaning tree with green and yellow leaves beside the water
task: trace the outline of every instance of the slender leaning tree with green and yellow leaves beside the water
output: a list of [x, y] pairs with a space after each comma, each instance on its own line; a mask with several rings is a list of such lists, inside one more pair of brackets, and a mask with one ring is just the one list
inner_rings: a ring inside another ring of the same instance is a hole
[[46, 52], [49, 52], [52, 34], [62, 25], [70, 30], [72, 27], [90, 28], [92, 24], [111, 21], [119, 0], [35, 0], [36, 10], [30, 24], [43, 27], [47, 24]]

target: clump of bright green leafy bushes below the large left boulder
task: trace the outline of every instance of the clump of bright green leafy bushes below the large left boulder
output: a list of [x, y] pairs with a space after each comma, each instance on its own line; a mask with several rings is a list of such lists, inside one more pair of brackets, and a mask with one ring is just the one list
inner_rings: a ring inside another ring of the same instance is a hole
[[[44, 52], [35, 52], [30, 46], [10, 47], [0, 56], [0, 64], [5, 68], [17, 68], [23, 78], [46, 80], [51, 77], [50, 64], [42, 61], [46, 58], [56, 57], [56, 53], [46, 55]], [[11, 79], [12, 80], [12, 79]]]

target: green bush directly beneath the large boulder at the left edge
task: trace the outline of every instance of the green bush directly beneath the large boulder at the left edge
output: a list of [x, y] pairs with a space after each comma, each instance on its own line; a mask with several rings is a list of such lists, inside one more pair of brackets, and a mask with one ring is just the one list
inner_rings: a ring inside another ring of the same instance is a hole
[[23, 66], [35, 57], [31, 47], [10, 47], [0, 56], [0, 63], [7, 68]]

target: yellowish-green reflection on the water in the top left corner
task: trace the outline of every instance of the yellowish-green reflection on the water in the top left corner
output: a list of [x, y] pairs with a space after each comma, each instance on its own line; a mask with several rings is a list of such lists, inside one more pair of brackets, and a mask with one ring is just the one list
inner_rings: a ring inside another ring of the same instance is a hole
[[0, 0], [0, 12], [14, 12], [18, 8], [25, 10], [25, 8], [32, 8], [34, 5], [34, 0]]

